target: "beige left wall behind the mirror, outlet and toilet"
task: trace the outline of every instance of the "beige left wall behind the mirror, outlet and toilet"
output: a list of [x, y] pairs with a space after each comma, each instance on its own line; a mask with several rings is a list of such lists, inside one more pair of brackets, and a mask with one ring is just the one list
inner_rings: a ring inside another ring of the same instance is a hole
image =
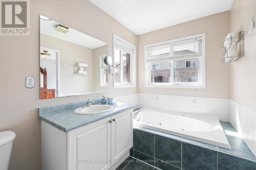
[[[112, 56], [112, 34], [137, 45], [137, 36], [87, 0], [30, 1], [30, 36], [0, 36], [0, 131], [12, 130], [10, 170], [40, 169], [40, 121], [37, 108], [86, 100], [88, 95], [39, 100], [39, 14], [50, 17], [108, 43]], [[35, 88], [25, 88], [25, 77], [35, 77]], [[112, 80], [110, 79], [110, 82]], [[137, 88], [113, 89], [118, 96], [137, 93]], [[90, 95], [100, 98], [102, 94]]]

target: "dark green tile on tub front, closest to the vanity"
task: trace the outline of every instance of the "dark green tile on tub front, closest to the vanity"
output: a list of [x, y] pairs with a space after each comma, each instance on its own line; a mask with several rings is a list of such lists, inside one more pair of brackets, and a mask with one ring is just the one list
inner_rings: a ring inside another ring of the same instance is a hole
[[155, 134], [134, 129], [134, 150], [155, 156]]

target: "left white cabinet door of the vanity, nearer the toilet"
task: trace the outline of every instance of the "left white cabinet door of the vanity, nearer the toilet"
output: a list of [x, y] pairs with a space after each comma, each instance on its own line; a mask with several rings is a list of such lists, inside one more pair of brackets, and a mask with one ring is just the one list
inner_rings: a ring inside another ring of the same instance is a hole
[[68, 132], [69, 170], [104, 170], [111, 166], [110, 117]]

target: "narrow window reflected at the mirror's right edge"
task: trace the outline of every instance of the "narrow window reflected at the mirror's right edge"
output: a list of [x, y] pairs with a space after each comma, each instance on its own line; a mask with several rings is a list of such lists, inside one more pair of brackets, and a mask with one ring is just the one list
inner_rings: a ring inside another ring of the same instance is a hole
[[108, 66], [104, 63], [106, 55], [99, 56], [100, 87], [108, 86]]

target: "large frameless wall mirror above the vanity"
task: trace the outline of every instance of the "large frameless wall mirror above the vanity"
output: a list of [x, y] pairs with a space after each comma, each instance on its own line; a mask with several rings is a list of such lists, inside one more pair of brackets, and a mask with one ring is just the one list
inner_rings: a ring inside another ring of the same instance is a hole
[[108, 91], [108, 44], [40, 15], [40, 99]]

